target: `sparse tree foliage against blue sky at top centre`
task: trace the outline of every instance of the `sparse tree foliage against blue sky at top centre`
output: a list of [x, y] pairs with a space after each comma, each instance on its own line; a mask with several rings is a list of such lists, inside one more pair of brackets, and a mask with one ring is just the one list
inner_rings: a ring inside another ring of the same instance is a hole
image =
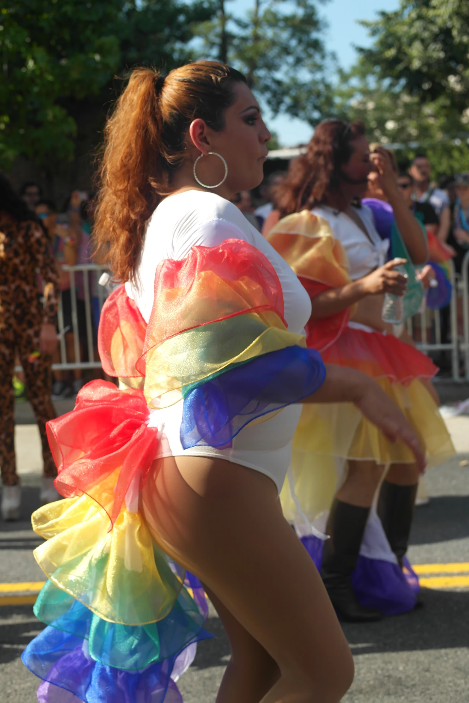
[[273, 115], [286, 112], [317, 124], [333, 105], [315, 0], [252, 0], [243, 18], [218, 0], [217, 15], [200, 27], [205, 53], [235, 66]]

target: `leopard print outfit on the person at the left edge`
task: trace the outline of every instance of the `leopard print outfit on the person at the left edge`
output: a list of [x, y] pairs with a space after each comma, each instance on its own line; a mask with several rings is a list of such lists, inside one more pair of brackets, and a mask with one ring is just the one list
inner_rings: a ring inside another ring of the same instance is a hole
[[[39, 301], [37, 274], [49, 294]], [[5, 486], [18, 483], [15, 464], [15, 396], [12, 385], [15, 353], [20, 356], [28, 397], [41, 434], [44, 476], [57, 475], [46, 436], [46, 422], [56, 417], [51, 401], [51, 356], [39, 349], [41, 325], [56, 325], [58, 271], [46, 235], [34, 221], [18, 222], [0, 212], [0, 467]]]

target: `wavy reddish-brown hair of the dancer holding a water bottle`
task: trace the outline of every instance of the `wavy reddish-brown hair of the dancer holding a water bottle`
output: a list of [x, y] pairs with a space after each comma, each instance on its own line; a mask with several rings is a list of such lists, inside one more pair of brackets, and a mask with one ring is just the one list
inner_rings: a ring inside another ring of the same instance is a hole
[[318, 124], [307, 153], [290, 163], [285, 182], [276, 188], [281, 217], [311, 209], [337, 196], [340, 169], [354, 151], [352, 142], [364, 134], [363, 122], [325, 120]]

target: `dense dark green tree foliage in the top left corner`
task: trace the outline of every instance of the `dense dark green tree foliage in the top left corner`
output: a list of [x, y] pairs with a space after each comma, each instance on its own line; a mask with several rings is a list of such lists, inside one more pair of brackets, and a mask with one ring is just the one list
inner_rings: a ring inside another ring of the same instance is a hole
[[184, 63], [210, 1], [0, 0], [0, 165], [23, 155], [51, 175], [94, 146], [115, 98], [113, 77], [137, 63]]

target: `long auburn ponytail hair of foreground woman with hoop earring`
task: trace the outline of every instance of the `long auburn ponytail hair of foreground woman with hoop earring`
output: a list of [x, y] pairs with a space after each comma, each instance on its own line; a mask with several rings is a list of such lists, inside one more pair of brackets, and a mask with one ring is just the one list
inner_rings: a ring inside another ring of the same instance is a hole
[[96, 250], [116, 280], [129, 280], [139, 259], [146, 221], [171, 192], [171, 174], [184, 160], [189, 125], [200, 118], [219, 131], [245, 82], [235, 69], [198, 61], [164, 77], [137, 68], [104, 130], [94, 234]]

